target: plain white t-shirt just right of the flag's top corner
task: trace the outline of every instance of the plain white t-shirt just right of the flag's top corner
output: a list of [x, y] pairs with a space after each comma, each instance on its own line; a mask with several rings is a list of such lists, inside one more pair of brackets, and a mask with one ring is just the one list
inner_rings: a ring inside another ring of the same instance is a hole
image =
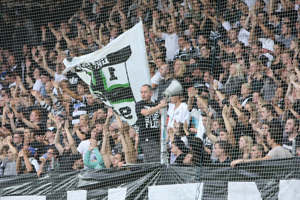
[[161, 39], [165, 40], [165, 47], [167, 49], [166, 51], [166, 57], [167, 60], [173, 61], [174, 58], [174, 52], [179, 49], [178, 46], [178, 36], [176, 33], [170, 35], [169, 33], [162, 33]]

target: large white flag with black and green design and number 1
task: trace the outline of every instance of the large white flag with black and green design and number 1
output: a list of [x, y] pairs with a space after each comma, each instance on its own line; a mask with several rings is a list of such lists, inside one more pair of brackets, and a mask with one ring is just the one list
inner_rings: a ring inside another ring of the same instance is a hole
[[74, 57], [70, 62], [65, 59], [64, 64], [63, 73], [76, 67], [76, 73], [91, 86], [94, 96], [131, 126], [136, 123], [135, 104], [142, 100], [140, 88], [151, 85], [142, 22], [103, 49]]

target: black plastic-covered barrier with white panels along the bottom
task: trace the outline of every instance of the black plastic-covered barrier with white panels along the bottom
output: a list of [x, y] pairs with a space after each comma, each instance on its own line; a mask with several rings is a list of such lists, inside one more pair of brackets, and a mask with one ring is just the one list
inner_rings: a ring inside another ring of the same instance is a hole
[[1, 200], [299, 199], [300, 158], [244, 163], [148, 165], [0, 178]]

